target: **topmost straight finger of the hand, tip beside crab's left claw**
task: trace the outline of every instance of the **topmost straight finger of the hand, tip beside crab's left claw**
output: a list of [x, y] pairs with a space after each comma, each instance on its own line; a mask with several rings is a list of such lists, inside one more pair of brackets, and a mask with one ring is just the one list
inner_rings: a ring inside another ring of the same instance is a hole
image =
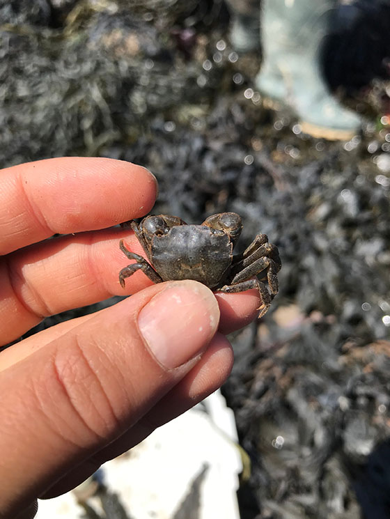
[[0, 171], [0, 255], [59, 233], [111, 227], [146, 215], [157, 181], [142, 166], [61, 157]]

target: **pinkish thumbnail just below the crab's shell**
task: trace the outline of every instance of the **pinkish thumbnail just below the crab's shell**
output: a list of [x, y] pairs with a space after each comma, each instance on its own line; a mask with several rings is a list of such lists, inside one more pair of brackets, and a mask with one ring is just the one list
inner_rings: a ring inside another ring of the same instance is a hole
[[155, 295], [138, 316], [150, 352], [167, 369], [205, 350], [217, 331], [219, 307], [210, 290], [196, 281], [179, 281]]

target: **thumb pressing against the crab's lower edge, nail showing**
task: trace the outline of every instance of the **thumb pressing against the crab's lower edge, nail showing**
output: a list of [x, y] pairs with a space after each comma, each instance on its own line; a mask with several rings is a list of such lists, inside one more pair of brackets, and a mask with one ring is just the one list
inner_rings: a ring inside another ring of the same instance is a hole
[[172, 281], [1, 371], [0, 519], [136, 424], [198, 362], [218, 323], [208, 288]]

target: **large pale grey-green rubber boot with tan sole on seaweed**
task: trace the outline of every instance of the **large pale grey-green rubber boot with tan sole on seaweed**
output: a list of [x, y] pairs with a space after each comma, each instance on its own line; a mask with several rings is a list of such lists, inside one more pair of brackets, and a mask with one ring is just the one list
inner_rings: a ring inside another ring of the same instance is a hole
[[304, 133], [349, 140], [361, 119], [331, 95], [319, 63], [335, 6], [336, 0], [263, 0], [263, 64], [256, 88], [266, 98], [290, 105]]

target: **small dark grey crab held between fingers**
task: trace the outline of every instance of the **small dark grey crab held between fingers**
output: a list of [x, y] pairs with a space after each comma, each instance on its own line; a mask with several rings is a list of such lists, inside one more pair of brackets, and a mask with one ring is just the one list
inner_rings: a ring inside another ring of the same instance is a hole
[[276, 274], [281, 260], [267, 235], [256, 235], [242, 254], [233, 254], [242, 230], [241, 217], [235, 212], [212, 215], [201, 225], [187, 225], [176, 216], [147, 216], [139, 224], [133, 220], [131, 227], [150, 263], [127, 250], [120, 240], [120, 250], [137, 262], [120, 270], [123, 288], [125, 279], [137, 270], [142, 270], [154, 283], [194, 279], [212, 291], [226, 293], [258, 288], [262, 300], [260, 316], [278, 292]]

